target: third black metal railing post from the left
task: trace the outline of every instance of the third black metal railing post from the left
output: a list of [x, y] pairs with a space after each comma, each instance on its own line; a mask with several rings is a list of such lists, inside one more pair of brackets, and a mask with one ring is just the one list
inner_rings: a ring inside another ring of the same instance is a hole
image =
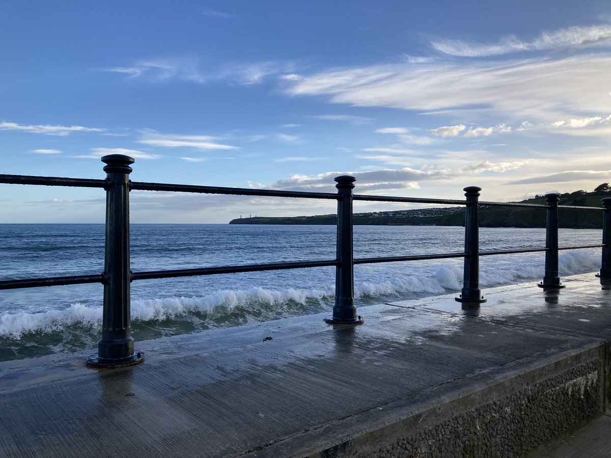
[[480, 289], [480, 219], [479, 203], [481, 187], [467, 186], [463, 189], [467, 198], [464, 222], [464, 258], [463, 290], [458, 302], [481, 304], [486, 299]]

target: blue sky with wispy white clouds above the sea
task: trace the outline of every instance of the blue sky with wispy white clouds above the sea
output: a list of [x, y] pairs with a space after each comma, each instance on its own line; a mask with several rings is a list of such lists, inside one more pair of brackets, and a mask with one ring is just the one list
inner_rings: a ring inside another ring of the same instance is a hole
[[[485, 200], [611, 181], [611, 7], [556, 1], [0, 4], [0, 173]], [[131, 193], [134, 223], [331, 213]], [[329, 206], [331, 205], [331, 206]], [[358, 203], [356, 211], [401, 209]], [[0, 185], [2, 222], [103, 222], [99, 190]]]

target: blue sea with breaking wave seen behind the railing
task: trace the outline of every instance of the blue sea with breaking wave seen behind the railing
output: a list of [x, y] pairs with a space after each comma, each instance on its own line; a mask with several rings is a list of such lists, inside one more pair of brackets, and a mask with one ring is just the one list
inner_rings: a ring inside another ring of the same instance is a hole
[[[130, 231], [134, 272], [335, 258], [335, 226], [133, 224]], [[602, 231], [561, 229], [559, 239], [560, 246], [598, 244]], [[544, 229], [480, 229], [480, 250], [544, 245]], [[462, 227], [354, 227], [355, 258], [463, 250]], [[600, 256], [601, 249], [561, 251], [561, 277], [598, 271]], [[356, 305], [458, 294], [463, 262], [356, 265]], [[102, 224], [0, 225], [0, 280], [100, 274], [103, 269]], [[544, 253], [480, 258], [483, 289], [537, 283], [543, 274]], [[140, 341], [331, 313], [334, 288], [335, 267], [139, 280], [131, 284], [131, 332]], [[102, 293], [96, 283], [0, 291], [0, 361], [95, 351]]]

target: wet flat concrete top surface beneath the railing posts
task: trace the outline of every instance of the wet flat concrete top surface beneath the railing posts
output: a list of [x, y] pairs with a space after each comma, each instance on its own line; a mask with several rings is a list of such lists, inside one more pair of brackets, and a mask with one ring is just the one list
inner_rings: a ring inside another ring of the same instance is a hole
[[453, 296], [362, 307], [356, 327], [313, 315], [142, 341], [133, 368], [0, 363], [0, 456], [307, 456], [611, 340], [611, 289], [563, 283], [488, 289], [478, 310]]

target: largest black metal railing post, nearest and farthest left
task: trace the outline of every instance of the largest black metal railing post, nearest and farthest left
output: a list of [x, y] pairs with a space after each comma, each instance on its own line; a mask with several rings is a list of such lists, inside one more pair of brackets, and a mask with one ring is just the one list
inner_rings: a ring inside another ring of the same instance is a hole
[[134, 354], [130, 325], [130, 165], [123, 154], [104, 156], [106, 172], [106, 244], [104, 249], [104, 310], [98, 354], [87, 358], [92, 367], [130, 366], [144, 361]]

